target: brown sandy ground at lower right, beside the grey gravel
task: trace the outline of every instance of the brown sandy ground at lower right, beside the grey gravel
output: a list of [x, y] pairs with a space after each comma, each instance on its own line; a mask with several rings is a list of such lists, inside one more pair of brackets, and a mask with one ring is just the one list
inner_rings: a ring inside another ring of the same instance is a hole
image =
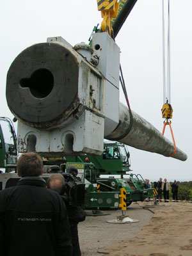
[[[102, 248], [110, 256], [191, 256], [192, 204], [161, 202], [140, 205], [154, 212], [150, 224], [130, 238]], [[96, 254], [97, 255], [97, 254]]]

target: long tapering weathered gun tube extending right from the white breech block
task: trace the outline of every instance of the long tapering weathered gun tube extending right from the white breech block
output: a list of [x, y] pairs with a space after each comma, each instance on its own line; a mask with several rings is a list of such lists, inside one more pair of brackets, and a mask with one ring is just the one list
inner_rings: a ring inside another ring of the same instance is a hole
[[[108, 140], [116, 140], [119, 136], [126, 133], [131, 122], [129, 109], [120, 102], [119, 124], [115, 131], [108, 135]], [[166, 139], [153, 125], [144, 118], [132, 111], [132, 127], [127, 136], [118, 140], [134, 148], [154, 152], [163, 156], [171, 156], [174, 152], [174, 145]], [[188, 156], [179, 148], [174, 156], [175, 159], [186, 161]]]

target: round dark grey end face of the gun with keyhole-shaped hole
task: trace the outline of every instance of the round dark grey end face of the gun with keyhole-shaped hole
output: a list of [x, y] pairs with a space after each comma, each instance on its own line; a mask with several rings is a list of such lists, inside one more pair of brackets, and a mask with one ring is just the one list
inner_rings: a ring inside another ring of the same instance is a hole
[[15, 58], [8, 70], [6, 99], [19, 120], [47, 129], [77, 108], [79, 63], [76, 52], [71, 51], [42, 43]]

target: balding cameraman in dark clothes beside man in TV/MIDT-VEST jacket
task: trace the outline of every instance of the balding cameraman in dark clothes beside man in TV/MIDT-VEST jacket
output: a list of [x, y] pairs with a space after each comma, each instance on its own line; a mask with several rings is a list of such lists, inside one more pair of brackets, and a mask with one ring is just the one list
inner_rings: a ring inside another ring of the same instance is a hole
[[[76, 168], [73, 166], [73, 169]], [[76, 172], [78, 172], [77, 169]], [[68, 195], [65, 193], [65, 179], [60, 173], [53, 174], [47, 179], [47, 188], [60, 194], [63, 202], [65, 202], [72, 237], [72, 256], [81, 256], [77, 224], [85, 220], [86, 213], [81, 207], [70, 203]]]

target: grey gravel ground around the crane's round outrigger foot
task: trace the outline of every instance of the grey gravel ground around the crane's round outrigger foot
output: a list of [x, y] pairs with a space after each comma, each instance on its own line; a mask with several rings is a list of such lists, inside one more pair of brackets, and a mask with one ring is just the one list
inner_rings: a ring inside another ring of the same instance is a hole
[[[86, 211], [92, 212], [92, 211]], [[122, 215], [122, 211], [102, 211], [109, 213], [107, 216], [86, 216], [86, 220], [79, 223], [79, 243], [84, 256], [95, 256], [102, 254], [102, 248], [113, 245], [119, 241], [132, 237], [143, 226], [148, 225], [153, 216], [151, 211], [143, 209], [138, 204], [131, 204], [127, 208], [126, 215], [137, 223], [107, 223], [115, 220], [116, 216]]]

